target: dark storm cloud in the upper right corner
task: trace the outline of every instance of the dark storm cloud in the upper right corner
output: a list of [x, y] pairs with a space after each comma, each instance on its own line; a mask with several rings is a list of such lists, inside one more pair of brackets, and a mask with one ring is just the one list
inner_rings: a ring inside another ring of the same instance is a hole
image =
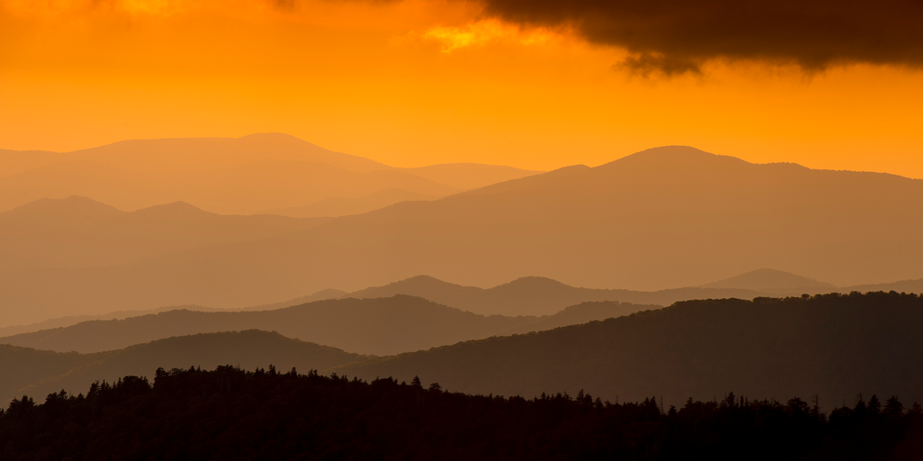
[[570, 26], [629, 50], [629, 70], [700, 72], [712, 59], [923, 65], [923, 0], [482, 0], [526, 26]]

